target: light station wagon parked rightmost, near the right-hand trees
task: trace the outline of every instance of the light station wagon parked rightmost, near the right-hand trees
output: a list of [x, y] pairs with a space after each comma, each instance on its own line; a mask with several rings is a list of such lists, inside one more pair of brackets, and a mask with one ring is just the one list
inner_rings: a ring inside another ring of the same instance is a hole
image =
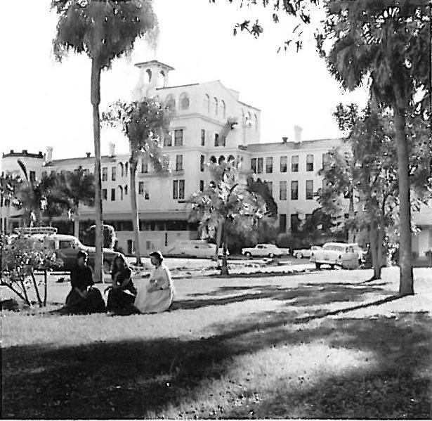
[[358, 254], [352, 245], [344, 242], [327, 242], [322, 250], [314, 250], [310, 254], [310, 261], [315, 263], [317, 269], [321, 265], [328, 264], [330, 268], [340, 266], [341, 268], [358, 268]]

